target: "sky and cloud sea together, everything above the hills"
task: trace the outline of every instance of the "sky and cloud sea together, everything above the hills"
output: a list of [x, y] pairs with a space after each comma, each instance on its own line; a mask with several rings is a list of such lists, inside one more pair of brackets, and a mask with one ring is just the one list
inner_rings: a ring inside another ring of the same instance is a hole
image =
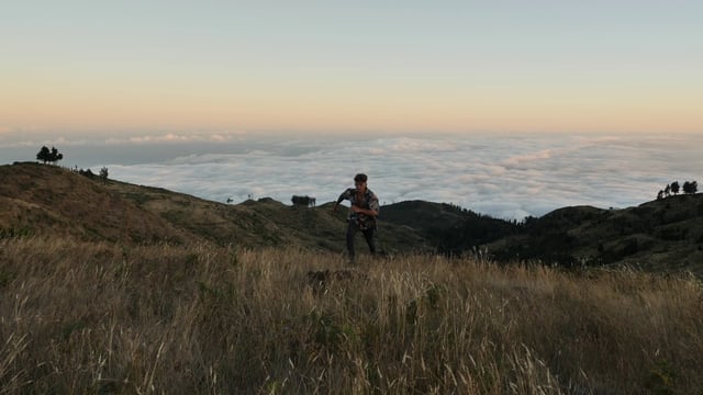
[[703, 169], [700, 0], [0, 0], [0, 165], [503, 218]]

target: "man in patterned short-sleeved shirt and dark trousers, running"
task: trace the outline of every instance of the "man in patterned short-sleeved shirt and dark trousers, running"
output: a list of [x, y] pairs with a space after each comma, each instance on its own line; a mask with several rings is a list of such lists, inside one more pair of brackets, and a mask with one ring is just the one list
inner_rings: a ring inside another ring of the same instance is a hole
[[355, 262], [354, 237], [356, 233], [361, 230], [366, 244], [369, 246], [371, 253], [376, 253], [376, 219], [379, 213], [378, 198], [366, 187], [366, 174], [356, 174], [354, 177], [354, 187], [342, 192], [334, 204], [333, 212], [337, 212], [337, 207], [343, 200], [352, 203], [349, 207], [349, 218], [347, 226], [347, 253], [349, 263]]

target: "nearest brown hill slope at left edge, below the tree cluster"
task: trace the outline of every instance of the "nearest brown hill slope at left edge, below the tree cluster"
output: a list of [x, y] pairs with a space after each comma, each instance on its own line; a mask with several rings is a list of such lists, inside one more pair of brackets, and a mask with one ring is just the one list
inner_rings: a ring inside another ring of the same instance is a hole
[[0, 167], [0, 234], [124, 242], [197, 237], [94, 180], [37, 163]]

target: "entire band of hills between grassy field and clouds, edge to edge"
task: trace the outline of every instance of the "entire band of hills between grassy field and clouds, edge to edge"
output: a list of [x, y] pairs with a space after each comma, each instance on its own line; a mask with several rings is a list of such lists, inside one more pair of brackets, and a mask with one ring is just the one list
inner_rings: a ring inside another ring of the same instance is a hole
[[[126, 245], [196, 241], [344, 251], [346, 213], [333, 214], [331, 203], [300, 207], [264, 198], [231, 205], [34, 162], [0, 166], [0, 239], [75, 237]], [[703, 195], [622, 210], [562, 207], [525, 223], [451, 204], [400, 202], [381, 207], [379, 245], [391, 255], [480, 252], [499, 261], [703, 273]]]

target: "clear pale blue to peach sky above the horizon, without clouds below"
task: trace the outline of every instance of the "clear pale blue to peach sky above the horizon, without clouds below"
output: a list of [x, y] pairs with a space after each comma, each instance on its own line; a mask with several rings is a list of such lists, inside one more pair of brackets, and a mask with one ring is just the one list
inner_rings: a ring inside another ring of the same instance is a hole
[[4, 1], [0, 139], [703, 133], [702, 15], [680, 0]]

